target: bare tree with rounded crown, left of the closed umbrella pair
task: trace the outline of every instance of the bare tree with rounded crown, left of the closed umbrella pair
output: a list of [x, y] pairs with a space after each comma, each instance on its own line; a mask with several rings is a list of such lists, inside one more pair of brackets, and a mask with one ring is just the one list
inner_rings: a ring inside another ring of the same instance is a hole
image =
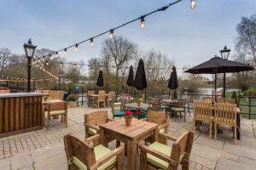
[[137, 45], [124, 37], [113, 37], [103, 42], [103, 56], [108, 56], [114, 65], [115, 88], [119, 88], [119, 71], [125, 63], [137, 57]]

